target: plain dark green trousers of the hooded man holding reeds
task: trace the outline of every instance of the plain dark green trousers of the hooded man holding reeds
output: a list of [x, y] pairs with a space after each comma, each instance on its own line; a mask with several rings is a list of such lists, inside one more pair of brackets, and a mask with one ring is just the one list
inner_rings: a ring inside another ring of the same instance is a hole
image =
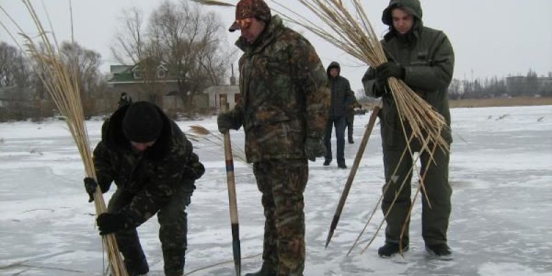
[[[418, 143], [413, 143], [413, 150], [419, 150]], [[395, 148], [384, 148], [384, 168], [385, 179], [388, 188], [382, 201], [382, 210], [384, 214], [389, 210], [395, 194], [398, 193], [397, 200], [386, 218], [387, 227], [385, 230], [386, 242], [398, 243], [402, 225], [408, 216], [408, 210], [411, 207], [411, 179], [413, 159], [408, 154], [404, 155], [402, 162], [400, 157], [403, 150]], [[451, 195], [453, 193], [449, 184], [449, 153], [444, 153], [437, 148], [433, 155], [435, 163], [430, 160], [428, 153], [420, 155], [420, 175], [426, 171], [424, 178], [424, 187], [421, 188], [422, 199], [422, 237], [426, 245], [435, 245], [446, 243], [446, 232], [449, 228], [449, 217], [451, 215]], [[395, 168], [397, 171], [395, 172]], [[395, 172], [395, 175], [393, 175]], [[405, 181], [406, 179], [406, 181]], [[390, 181], [391, 180], [391, 181]], [[400, 192], [401, 184], [404, 186]], [[384, 190], [386, 186], [384, 186]], [[426, 200], [429, 199], [429, 203]], [[430, 208], [431, 205], [431, 208]], [[402, 239], [403, 244], [408, 244], [408, 224]]]

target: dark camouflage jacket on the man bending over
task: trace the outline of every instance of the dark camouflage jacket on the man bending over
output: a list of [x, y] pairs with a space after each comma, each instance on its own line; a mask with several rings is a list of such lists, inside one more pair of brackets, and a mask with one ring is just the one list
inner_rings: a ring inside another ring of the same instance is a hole
[[192, 195], [195, 179], [203, 175], [204, 167], [184, 133], [161, 110], [161, 136], [143, 153], [132, 150], [121, 128], [127, 109], [119, 108], [103, 123], [93, 159], [104, 193], [115, 181], [117, 189], [133, 196], [121, 213], [139, 226], [155, 215], [180, 186]]

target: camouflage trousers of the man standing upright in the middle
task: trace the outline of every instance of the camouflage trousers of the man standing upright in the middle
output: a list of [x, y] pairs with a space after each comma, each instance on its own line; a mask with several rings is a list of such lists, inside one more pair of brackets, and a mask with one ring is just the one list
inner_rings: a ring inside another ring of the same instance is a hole
[[301, 276], [305, 266], [303, 193], [306, 159], [259, 161], [253, 165], [264, 207], [263, 261], [277, 275]]

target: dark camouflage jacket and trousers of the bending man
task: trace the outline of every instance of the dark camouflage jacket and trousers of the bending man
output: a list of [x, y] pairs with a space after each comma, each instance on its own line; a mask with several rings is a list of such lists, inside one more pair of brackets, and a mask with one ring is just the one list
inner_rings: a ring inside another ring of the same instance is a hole
[[[133, 226], [157, 213], [166, 275], [180, 275], [186, 251], [185, 208], [204, 166], [184, 133], [161, 110], [161, 136], [144, 152], [133, 150], [121, 130], [127, 108], [119, 108], [102, 126], [102, 139], [94, 150], [97, 181], [102, 191], [115, 181], [117, 191], [108, 209], [126, 216]], [[138, 265], [144, 253], [135, 228], [116, 236], [121, 253]]]

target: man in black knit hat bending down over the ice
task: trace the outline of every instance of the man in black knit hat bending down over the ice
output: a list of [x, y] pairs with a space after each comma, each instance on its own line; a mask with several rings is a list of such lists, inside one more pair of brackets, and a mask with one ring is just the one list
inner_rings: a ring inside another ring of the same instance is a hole
[[136, 228], [156, 213], [165, 275], [183, 275], [185, 210], [204, 167], [177, 124], [153, 103], [123, 106], [101, 128], [94, 165], [97, 182], [84, 179], [90, 201], [98, 186], [106, 193], [117, 185], [97, 225], [100, 235], [115, 233], [129, 275], [148, 273]]

